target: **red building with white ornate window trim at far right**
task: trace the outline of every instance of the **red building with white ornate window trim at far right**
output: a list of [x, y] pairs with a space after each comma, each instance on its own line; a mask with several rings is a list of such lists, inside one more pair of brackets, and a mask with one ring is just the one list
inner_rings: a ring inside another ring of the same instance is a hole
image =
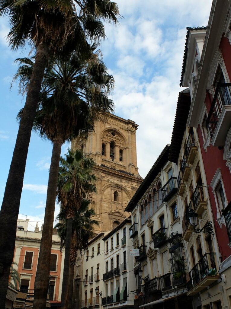
[[[201, 159], [219, 246], [216, 260], [220, 278], [209, 290], [200, 292], [203, 308], [231, 306], [230, 14], [230, 1], [214, 0], [207, 29], [188, 29], [181, 78], [181, 85], [190, 89], [187, 125], [195, 128], [201, 145]], [[201, 37], [200, 48], [198, 36]]]

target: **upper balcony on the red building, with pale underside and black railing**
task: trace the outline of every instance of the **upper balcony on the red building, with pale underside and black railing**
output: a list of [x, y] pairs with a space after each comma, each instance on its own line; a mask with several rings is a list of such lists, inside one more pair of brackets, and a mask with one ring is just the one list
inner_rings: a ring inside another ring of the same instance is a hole
[[213, 146], [224, 146], [231, 126], [231, 84], [217, 84], [208, 113], [207, 124], [212, 136]]

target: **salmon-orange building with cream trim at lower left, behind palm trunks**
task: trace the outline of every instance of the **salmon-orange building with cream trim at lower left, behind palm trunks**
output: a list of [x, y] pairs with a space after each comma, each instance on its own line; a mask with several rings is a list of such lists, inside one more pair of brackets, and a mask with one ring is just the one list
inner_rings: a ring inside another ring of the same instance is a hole
[[[28, 224], [28, 219], [18, 219], [13, 262], [18, 265], [14, 268], [21, 278], [20, 292], [27, 293], [28, 298], [33, 299], [42, 228], [39, 231], [36, 224], [34, 231], [28, 231]], [[53, 234], [48, 291], [50, 307], [61, 303], [64, 254], [64, 250], [60, 252], [60, 238]]]

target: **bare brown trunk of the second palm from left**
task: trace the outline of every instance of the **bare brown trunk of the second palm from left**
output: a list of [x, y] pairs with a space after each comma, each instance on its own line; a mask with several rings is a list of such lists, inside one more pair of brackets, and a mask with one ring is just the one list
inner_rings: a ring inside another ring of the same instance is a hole
[[49, 179], [47, 186], [46, 208], [44, 224], [38, 258], [38, 266], [34, 285], [33, 308], [46, 308], [46, 298], [49, 287], [50, 258], [53, 235], [53, 221], [55, 200], [57, 195], [58, 168], [61, 155], [62, 142], [56, 139], [53, 142]]

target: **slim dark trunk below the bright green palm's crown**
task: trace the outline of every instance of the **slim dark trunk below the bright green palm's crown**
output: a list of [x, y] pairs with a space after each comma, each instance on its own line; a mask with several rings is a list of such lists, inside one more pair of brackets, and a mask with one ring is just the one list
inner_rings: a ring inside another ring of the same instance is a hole
[[67, 295], [68, 295], [69, 267], [70, 267], [70, 258], [71, 258], [72, 223], [73, 223], [73, 218], [67, 218], [65, 258], [64, 258], [62, 294], [61, 294], [62, 309], [66, 309]]

